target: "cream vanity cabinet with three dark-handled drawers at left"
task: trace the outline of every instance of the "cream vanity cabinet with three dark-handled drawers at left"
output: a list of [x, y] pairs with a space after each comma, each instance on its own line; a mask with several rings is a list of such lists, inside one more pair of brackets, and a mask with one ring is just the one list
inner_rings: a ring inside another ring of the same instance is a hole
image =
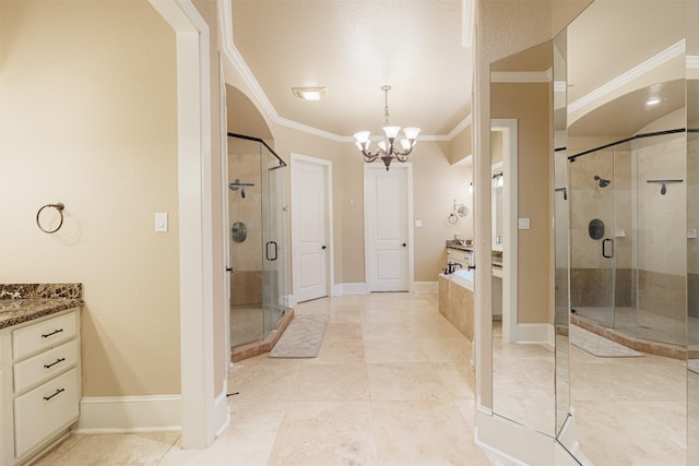
[[78, 420], [79, 325], [70, 309], [2, 331], [1, 465], [23, 464]]

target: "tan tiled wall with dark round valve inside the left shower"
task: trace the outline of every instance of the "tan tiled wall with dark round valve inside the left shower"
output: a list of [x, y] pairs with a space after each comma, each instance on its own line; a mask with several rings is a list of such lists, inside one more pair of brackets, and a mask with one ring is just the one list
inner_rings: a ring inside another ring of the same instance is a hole
[[[232, 144], [233, 146], [233, 144]], [[229, 192], [229, 219], [245, 223], [248, 235], [245, 241], [230, 241], [230, 258], [234, 273], [230, 274], [232, 306], [262, 304], [262, 235], [261, 235], [261, 188], [260, 156], [257, 153], [228, 154], [228, 181], [254, 183], [245, 188], [245, 199], [240, 191]], [[230, 238], [230, 225], [228, 226]]]

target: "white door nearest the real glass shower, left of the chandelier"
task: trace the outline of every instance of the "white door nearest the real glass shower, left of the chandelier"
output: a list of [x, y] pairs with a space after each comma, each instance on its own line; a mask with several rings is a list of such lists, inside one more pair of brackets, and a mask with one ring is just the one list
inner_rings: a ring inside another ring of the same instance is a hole
[[[328, 167], [292, 159], [294, 296], [297, 302], [328, 296]], [[320, 160], [319, 160], [320, 162]]]

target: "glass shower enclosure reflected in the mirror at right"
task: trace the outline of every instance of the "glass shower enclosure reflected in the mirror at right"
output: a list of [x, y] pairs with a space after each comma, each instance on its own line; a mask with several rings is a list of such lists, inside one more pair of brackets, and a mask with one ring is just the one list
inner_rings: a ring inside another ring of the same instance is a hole
[[573, 320], [684, 347], [685, 145], [668, 130], [569, 157]]

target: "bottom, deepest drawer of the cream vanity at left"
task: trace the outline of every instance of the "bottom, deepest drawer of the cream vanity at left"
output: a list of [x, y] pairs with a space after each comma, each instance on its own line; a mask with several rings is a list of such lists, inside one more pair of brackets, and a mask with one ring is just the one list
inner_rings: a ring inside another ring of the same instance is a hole
[[78, 369], [17, 396], [14, 401], [14, 455], [24, 455], [75, 421], [78, 403]]

